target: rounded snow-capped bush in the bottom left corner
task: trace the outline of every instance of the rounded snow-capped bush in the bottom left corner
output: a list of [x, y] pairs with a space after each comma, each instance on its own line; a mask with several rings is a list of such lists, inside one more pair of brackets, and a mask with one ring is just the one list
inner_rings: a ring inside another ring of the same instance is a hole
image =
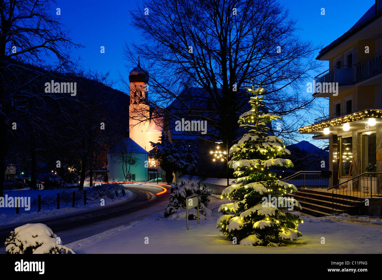
[[7, 254], [75, 254], [58, 242], [57, 235], [44, 224], [16, 227], [5, 241]]

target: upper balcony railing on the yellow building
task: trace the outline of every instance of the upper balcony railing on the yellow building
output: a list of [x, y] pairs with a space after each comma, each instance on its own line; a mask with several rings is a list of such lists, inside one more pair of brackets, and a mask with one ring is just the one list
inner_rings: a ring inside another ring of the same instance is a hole
[[[338, 85], [357, 84], [363, 80], [382, 74], [382, 51], [357, 64], [334, 66], [314, 79], [317, 83], [338, 83]], [[316, 90], [315, 90], [316, 93]]]

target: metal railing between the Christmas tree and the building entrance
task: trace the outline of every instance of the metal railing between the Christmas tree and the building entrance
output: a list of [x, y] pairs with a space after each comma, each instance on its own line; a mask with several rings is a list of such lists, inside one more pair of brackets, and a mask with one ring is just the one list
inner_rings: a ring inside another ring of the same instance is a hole
[[281, 179], [299, 188], [327, 188], [329, 186], [330, 171], [298, 171], [293, 175]]

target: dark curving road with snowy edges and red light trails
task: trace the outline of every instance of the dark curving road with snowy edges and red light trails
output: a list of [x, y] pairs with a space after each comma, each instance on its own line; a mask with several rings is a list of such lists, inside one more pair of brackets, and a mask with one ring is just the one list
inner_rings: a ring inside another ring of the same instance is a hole
[[[43, 222], [49, 226], [61, 238], [63, 244], [67, 244], [163, 212], [168, 203], [169, 190], [156, 195], [162, 191], [161, 188], [147, 185], [129, 185], [126, 188], [136, 194], [133, 200], [126, 203], [69, 217], [37, 222]], [[25, 222], [19, 225], [22, 224]], [[5, 241], [10, 231], [16, 226], [18, 225], [1, 227], [0, 240]], [[5, 253], [5, 247], [0, 250], [0, 253]]]

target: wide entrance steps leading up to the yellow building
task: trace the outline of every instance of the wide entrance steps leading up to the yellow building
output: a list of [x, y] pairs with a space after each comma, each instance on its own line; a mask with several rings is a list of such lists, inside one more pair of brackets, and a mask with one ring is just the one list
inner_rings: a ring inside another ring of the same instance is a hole
[[[339, 210], [335, 210], [337, 213], [347, 213], [350, 215], [358, 214], [358, 203], [362, 203], [355, 196], [339, 195], [320, 191], [317, 189], [300, 188], [298, 191], [294, 191], [288, 196], [293, 196], [303, 207], [302, 212], [316, 216], [323, 217], [332, 214], [332, 207], [334, 209], [342, 207]], [[350, 204], [350, 205], [347, 205]], [[346, 205], [343, 207], [343, 205]]]

